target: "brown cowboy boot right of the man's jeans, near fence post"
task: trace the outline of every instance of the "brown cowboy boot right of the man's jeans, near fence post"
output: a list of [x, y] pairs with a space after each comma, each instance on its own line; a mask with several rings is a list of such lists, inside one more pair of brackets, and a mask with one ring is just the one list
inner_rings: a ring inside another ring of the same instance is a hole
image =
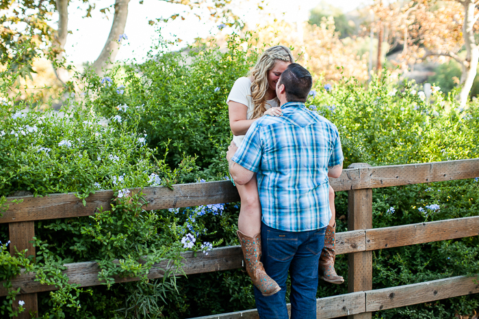
[[338, 276], [335, 271], [335, 241], [336, 241], [336, 223], [334, 227], [328, 225], [324, 235], [324, 248], [321, 251], [319, 273], [320, 278], [329, 283], [344, 283], [344, 278]]

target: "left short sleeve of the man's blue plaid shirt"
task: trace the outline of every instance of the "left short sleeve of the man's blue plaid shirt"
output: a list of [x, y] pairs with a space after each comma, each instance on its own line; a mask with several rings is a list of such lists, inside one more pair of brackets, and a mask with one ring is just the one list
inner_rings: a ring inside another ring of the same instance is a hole
[[233, 158], [231, 158], [231, 161], [256, 173], [261, 163], [261, 153], [262, 148], [261, 139], [259, 138], [259, 126], [257, 125], [257, 122], [255, 122], [250, 126], [248, 132], [246, 132], [246, 136], [236, 150]]

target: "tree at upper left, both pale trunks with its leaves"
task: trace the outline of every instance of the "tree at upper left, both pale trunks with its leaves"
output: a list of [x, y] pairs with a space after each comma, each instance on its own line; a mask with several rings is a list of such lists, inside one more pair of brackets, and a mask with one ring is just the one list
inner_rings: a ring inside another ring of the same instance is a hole
[[[203, 8], [209, 10], [209, 15], [215, 19], [223, 19], [225, 23], [233, 25], [235, 18], [227, 8], [231, 0], [160, 0], [169, 3], [177, 3], [190, 10]], [[31, 69], [33, 59], [46, 54], [53, 62], [55, 74], [62, 83], [68, 81], [68, 72], [64, 68], [64, 46], [68, 36], [68, 5], [69, 0], [49, 0], [49, 2], [31, 0], [0, 0], [0, 64], [6, 65], [6, 61], [14, 60], [17, 64], [13, 66], [25, 66], [22, 73], [25, 77], [34, 70]], [[88, 3], [85, 18], [91, 16], [94, 9], [92, 0], [83, 0]], [[140, 0], [140, 3], [143, 3]], [[114, 18], [109, 36], [103, 47], [103, 51], [94, 62], [92, 68], [97, 73], [107, 65], [107, 61], [114, 61], [120, 48], [120, 35], [125, 30], [128, 16], [129, 0], [116, 0], [114, 5]], [[101, 11], [105, 12], [107, 8]], [[58, 13], [57, 28], [50, 26], [50, 17], [54, 12]], [[158, 21], [168, 22], [181, 14], [174, 14], [170, 17], [158, 18]], [[184, 19], [184, 18], [183, 18]], [[151, 21], [151, 23], [154, 23]], [[25, 49], [25, 42], [29, 48]], [[22, 44], [21, 46], [18, 44]], [[20, 48], [22, 47], [22, 48]]]

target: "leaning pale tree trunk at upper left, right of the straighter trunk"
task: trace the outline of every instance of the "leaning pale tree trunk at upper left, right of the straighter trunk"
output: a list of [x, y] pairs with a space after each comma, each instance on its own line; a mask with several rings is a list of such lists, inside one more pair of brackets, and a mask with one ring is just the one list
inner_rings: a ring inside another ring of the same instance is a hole
[[109, 31], [109, 36], [103, 50], [92, 66], [97, 74], [101, 74], [102, 69], [107, 67], [108, 60], [115, 61], [115, 57], [120, 49], [118, 37], [125, 32], [125, 25], [127, 24], [129, 1], [130, 0], [115, 1], [115, 16], [113, 18], [112, 29]]

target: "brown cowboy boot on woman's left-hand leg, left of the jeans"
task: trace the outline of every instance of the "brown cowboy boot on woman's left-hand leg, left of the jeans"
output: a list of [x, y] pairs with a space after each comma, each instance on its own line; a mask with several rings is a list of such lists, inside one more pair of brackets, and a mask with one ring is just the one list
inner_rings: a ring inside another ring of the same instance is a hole
[[237, 235], [241, 242], [246, 273], [253, 281], [253, 285], [261, 291], [263, 296], [271, 296], [279, 292], [281, 288], [278, 283], [266, 274], [263, 263], [259, 261], [261, 259], [261, 234], [249, 237], [238, 230]]

